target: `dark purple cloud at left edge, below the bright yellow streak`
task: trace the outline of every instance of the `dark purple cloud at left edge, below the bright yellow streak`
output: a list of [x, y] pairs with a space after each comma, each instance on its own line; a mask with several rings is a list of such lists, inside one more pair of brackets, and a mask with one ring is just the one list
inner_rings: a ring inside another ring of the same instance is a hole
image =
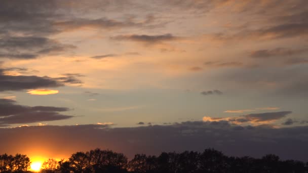
[[58, 112], [68, 111], [64, 107], [22, 106], [15, 101], [0, 99], [0, 125], [24, 124], [42, 121], [68, 119], [73, 116], [62, 115]]

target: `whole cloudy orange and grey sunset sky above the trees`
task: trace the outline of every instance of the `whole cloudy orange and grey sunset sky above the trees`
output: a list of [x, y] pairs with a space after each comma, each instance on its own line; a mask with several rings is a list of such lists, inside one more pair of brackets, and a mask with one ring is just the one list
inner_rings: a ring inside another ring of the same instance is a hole
[[308, 161], [307, 19], [305, 0], [4, 0], [0, 153]]

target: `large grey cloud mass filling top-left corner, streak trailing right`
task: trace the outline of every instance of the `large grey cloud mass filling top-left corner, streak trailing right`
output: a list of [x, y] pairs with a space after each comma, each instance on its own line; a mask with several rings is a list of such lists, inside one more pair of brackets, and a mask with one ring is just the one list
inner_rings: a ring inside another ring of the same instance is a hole
[[[101, 10], [97, 9], [100, 5]], [[108, 1], [59, 1], [46, 3], [37, 0], [4, 0], [0, 7], [0, 58], [34, 59], [46, 55], [58, 55], [74, 49], [73, 45], [62, 44], [50, 39], [54, 34], [75, 29], [121, 29], [127, 27], [155, 27], [162, 22], [152, 15], [143, 20], [135, 16], [123, 20], [107, 18], [81, 19], [85, 13], [103, 12], [107, 9], [119, 9], [123, 5], [134, 6], [135, 3], [110, 3]], [[16, 36], [18, 35], [18, 36]]]

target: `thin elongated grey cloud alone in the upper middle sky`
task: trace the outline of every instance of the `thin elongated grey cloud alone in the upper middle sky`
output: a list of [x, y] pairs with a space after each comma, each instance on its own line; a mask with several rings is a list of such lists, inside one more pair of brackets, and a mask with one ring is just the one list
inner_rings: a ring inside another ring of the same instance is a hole
[[179, 37], [173, 36], [172, 34], [164, 34], [164, 35], [118, 35], [111, 37], [111, 39], [115, 40], [131, 40], [144, 42], [146, 44], [157, 44], [163, 41], [172, 41], [179, 39]]

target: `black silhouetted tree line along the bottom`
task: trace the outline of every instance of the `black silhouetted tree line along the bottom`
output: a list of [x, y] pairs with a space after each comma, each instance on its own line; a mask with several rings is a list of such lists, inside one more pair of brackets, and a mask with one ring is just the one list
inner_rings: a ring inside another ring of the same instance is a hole
[[[0, 172], [30, 172], [26, 155], [0, 155]], [[67, 160], [48, 159], [42, 173], [106, 172], [106, 173], [308, 173], [308, 162], [280, 160], [267, 154], [262, 158], [226, 156], [214, 149], [203, 152], [163, 152], [159, 156], [136, 154], [128, 158], [111, 150], [94, 149], [76, 152]]]

